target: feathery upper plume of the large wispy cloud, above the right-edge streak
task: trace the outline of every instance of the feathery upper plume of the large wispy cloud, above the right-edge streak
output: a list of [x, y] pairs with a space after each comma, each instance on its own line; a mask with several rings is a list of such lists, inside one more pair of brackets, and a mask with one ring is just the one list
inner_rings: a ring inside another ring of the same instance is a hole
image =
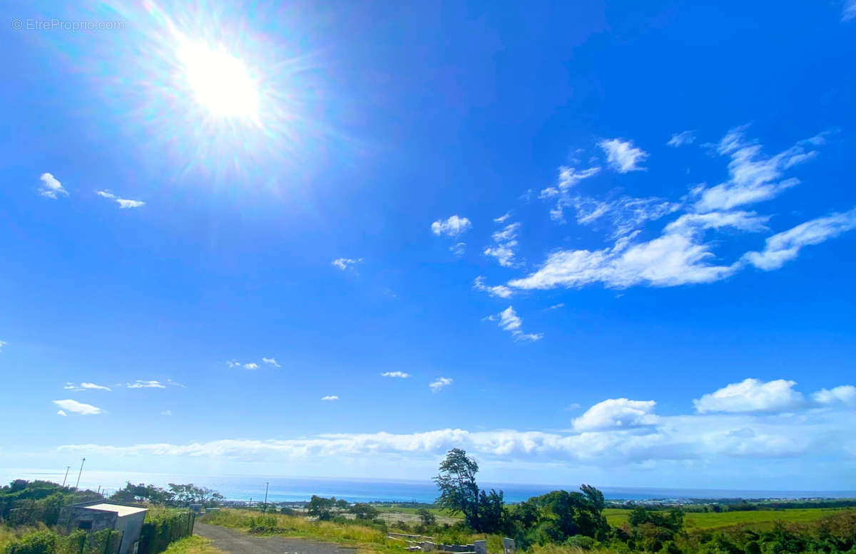
[[780, 180], [784, 171], [817, 156], [816, 150], [805, 149], [805, 144], [817, 144], [817, 138], [800, 141], [776, 156], [764, 156], [760, 144], [745, 139], [745, 131], [745, 126], [735, 127], [717, 144], [719, 154], [731, 157], [729, 179], [716, 186], [693, 188], [690, 197], [697, 198], [697, 211], [732, 209], [776, 197], [800, 183], [795, 178]]

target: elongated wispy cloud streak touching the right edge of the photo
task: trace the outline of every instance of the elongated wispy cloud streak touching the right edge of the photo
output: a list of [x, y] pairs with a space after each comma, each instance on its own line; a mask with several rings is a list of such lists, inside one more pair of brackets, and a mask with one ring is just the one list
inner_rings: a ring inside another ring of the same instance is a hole
[[794, 260], [803, 246], [819, 245], [827, 239], [832, 239], [854, 228], [856, 228], [856, 208], [841, 214], [805, 221], [788, 231], [776, 233], [767, 238], [764, 250], [746, 252], [743, 258], [758, 269], [766, 271], [778, 269], [785, 262]]

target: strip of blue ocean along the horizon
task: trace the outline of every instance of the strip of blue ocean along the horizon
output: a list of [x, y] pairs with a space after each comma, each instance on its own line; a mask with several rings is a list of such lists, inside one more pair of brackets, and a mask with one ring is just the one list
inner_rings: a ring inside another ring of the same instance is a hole
[[[2, 472], [6, 473], [6, 472]], [[62, 482], [62, 474], [44, 471], [17, 471], [9, 479], [45, 479]], [[74, 483], [76, 473], [69, 475]], [[107, 492], [124, 486], [125, 481], [166, 486], [167, 483], [193, 482], [207, 486], [223, 494], [228, 500], [262, 500], [265, 498], [265, 483], [270, 483], [269, 502], [293, 502], [309, 500], [313, 494], [323, 497], [335, 496], [352, 502], [426, 502], [437, 498], [437, 487], [429, 480], [385, 480], [385, 479], [323, 479], [292, 478], [249, 475], [195, 475], [187, 474], [123, 474], [121, 472], [83, 473], [80, 486]], [[520, 502], [558, 489], [578, 490], [579, 484], [528, 485], [514, 483], [479, 482], [479, 486], [490, 490], [502, 490], [507, 502]], [[596, 485], [597, 486], [597, 485]], [[856, 491], [782, 491], [782, 490], [737, 490], [737, 489], [694, 489], [597, 486], [609, 500], [660, 500], [689, 498], [856, 498]]]

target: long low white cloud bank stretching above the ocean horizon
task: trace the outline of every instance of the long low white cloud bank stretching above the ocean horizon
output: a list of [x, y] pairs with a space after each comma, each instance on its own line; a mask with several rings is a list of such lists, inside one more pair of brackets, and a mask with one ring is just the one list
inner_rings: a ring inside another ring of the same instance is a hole
[[[439, 381], [439, 380], [438, 380]], [[448, 380], [449, 382], [451, 380]], [[448, 385], [448, 383], [445, 383]], [[328, 433], [296, 439], [220, 439], [187, 444], [63, 445], [59, 452], [107, 457], [211, 457], [253, 460], [400, 456], [436, 463], [453, 447], [479, 462], [562, 463], [582, 468], [675, 468], [689, 472], [732, 467], [740, 459], [776, 458], [852, 461], [856, 410], [830, 404], [798, 416], [776, 413], [656, 415], [654, 401], [614, 398], [591, 406], [573, 429], [467, 431], [441, 428], [417, 433]], [[662, 466], [660, 464], [663, 464]], [[522, 467], [522, 465], [521, 465]], [[532, 466], [530, 466], [532, 467]], [[535, 467], [538, 467], [537, 465]], [[797, 465], [799, 468], [800, 465]], [[747, 471], [770, 476], [769, 463], [749, 463]], [[740, 469], [743, 471], [744, 469]]]

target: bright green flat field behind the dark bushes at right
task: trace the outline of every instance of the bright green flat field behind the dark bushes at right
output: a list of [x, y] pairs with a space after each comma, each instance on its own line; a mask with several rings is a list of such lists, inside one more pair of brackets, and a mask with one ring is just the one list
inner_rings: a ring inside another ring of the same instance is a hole
[[[722, 529], [725, 527], [751, 526], [758, 528], [772, 527], [776, 522], [811, 523], [823, 517], [832, 516], [845, 511], [856, 511], [852, 508], [809, 508], [792, 510], [758, 510], [733, 512], [690, 512], [684, 516], [684, 526], [693, 529]], [[630, 510], [608, 508], [603, 510], [606, 521], [615, 527], [627, 522]]]

